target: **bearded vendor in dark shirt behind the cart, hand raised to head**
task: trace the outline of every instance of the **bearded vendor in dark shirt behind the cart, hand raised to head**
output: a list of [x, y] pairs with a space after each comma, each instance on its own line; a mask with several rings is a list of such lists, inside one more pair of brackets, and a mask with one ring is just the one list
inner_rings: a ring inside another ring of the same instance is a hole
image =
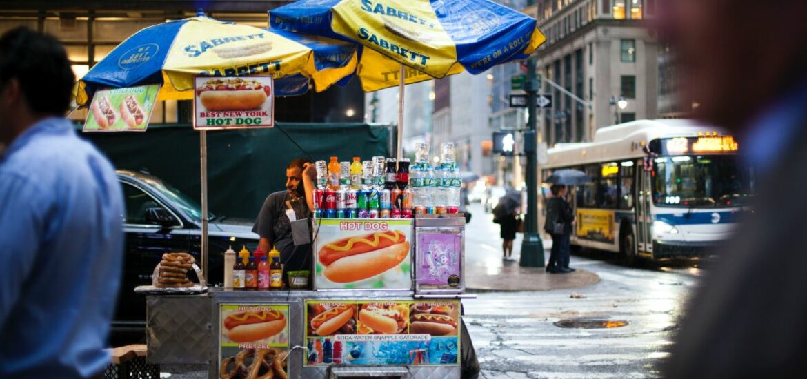
[[[311, 217], [314, 181], [303, 177], [303, 170], [312, 163], [298, 158], [286, 166], [286, 190], [266, 197], [257, 215], [253, 232], [261, 236], [259, 246], [269, 252], [273, 247], [280, 252], [284, 273], [312, 269], [311, 244], [295, 245], [291, 233], [291, 221]], [[288, 286], [288, 275], [283, 275]]]

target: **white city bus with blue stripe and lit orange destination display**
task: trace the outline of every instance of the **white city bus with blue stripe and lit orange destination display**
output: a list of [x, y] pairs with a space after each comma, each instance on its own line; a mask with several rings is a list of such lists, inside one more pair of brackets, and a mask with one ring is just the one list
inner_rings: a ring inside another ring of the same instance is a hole
[[[627, 261], [711, 253], [730, 237], [754, 192], [734, 137], [681, 119], [600, 128], [591, 143], [551, 148], [541, 169], [543, 178], [578, 169], [592, 179], [569, 191], [571, 244]], [[546, 203], [549, 185], [541, 192]], [[546, 212], [539, 214], [542, 227]]]

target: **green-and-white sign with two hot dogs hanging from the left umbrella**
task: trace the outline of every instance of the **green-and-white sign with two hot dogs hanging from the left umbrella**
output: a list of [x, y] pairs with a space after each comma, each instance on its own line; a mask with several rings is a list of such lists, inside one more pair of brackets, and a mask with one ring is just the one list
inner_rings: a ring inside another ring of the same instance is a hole
[[158, 84], [96, 91], [84, 131], [145, 131], [159, 91]]

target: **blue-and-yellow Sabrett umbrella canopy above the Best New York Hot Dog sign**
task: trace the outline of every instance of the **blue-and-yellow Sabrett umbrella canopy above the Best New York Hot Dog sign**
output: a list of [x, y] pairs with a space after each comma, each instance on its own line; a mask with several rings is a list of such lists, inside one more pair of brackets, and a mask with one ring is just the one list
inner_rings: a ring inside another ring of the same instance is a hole
[[95, 90], [162, 84], [158, 100], [191, 99], [196, 76], [268, 75], [275, 95], [317, 91], [352, 74], [357, 48], [337, 40], [228, 23], [203, 14], [147, 27], [119, 44], [74, 88], [77, 106]]

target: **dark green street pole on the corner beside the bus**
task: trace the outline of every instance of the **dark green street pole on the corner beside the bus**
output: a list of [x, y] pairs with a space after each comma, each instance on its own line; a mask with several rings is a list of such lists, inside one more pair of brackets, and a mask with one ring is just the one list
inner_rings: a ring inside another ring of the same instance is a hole
[[[527, 81], [524, 84], [527, 93], [527, 128], [536, 131], [537, 135], [537, 94], [538, 81], [535, 73], [535, 60], [527, 59]], [[522, 267], [544, 267], [544, 243], [538, 234], [538, 160], [533, 149], [526, 152], [527, 160], [527, 214], [524, 223], [524, 240], [521, 242]]]

